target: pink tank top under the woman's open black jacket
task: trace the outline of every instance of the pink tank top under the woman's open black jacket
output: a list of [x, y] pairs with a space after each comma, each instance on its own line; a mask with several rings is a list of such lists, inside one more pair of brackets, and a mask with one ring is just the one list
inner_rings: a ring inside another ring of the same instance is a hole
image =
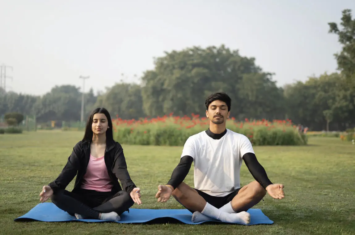
[[95, 158], [90, 154], [89, 164], [83, 176], [81, 188], [109, 192], [112, 187], [113, 184], [107, 172], [104, 156]]

